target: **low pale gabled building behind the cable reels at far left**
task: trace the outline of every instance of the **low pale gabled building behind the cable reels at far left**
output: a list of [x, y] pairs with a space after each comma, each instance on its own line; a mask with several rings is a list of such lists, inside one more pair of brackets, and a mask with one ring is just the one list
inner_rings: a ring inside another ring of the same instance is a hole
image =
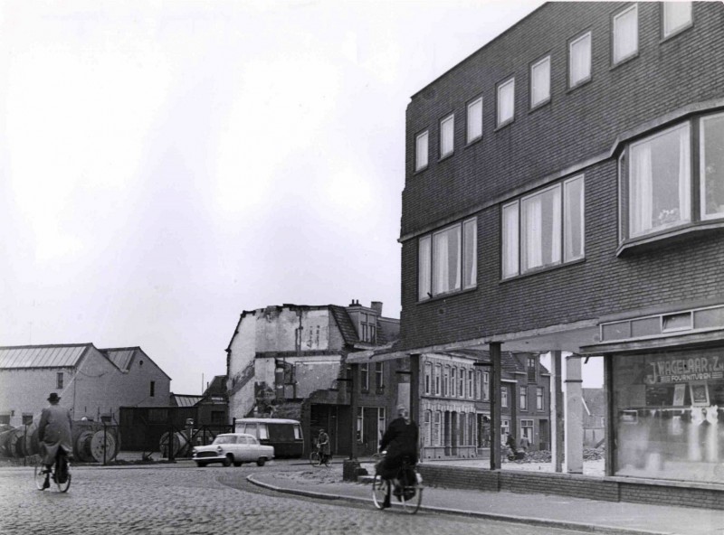
[[140, 347], [0, 347], [0, 423], [37, 423], [51, 392], [73, 419], [118, 422], [123, 406], [168, 404], [171, 378]]

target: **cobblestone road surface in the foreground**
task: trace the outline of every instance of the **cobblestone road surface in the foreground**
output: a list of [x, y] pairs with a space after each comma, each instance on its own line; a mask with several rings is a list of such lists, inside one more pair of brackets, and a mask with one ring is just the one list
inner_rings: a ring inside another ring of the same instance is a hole
[[262, 468], [178, 465], [74, 467], [71, 489], [40, 492], [31, 468], [0, 468], [0, 533], [571, 534], [574, 531], [481, 521], [431, 512], [380, 512], [371, 502], [323, 502], [260, 490], [249, 474], [303, 470], [283, 462]]

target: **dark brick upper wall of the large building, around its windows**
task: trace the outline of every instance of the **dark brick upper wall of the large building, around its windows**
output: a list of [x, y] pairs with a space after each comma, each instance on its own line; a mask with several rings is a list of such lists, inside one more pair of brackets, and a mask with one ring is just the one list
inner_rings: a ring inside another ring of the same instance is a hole
[[[724, 99], [724, 5], [694, 5], [693, 26], [661, 40], [660, 4], [639, 4], [639, 54], [610, 60], [611, 15], [626, 4], [545, 5], [414, 96], [407, 110], [403, 236], [479, 207], [477, 289], [417, 302], [417, 240], [402, 249], [403, 348], [596, 319], [656, 306], [724, 299], [721, 234], [617, 257], [615, 157], [581, 172], [586, 183], [586, 258], [527, 277], [500, 278], [500, 204], [518, 188], [601, 155], [617, 136], [675, 109]], [[567, 39], [593, 32], [593, 78], [567, 89]], [[525, 38], [522, 38], [525, 36]], [[529, 113], [529, 63], [550, 52], [550, 104]], [[516, 117], [495, 132], [495, 84], [516, 76]], [[465, 105], [482, 94], [483, 137], [464, 146]], [[455, 112], [455, 153], [437, 162], [437, 124]], [[414, 174], [414, 135], [430, 129], [430, 165]], [[675, 247], [672, 247], [674, 245]]]

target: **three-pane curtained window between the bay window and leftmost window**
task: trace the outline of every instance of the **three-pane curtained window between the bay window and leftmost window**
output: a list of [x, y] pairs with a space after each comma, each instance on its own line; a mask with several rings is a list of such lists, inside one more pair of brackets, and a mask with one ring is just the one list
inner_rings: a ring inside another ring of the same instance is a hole
[[582, 174], [503, 205], [503, 278], [584, 258], [584, 220]]

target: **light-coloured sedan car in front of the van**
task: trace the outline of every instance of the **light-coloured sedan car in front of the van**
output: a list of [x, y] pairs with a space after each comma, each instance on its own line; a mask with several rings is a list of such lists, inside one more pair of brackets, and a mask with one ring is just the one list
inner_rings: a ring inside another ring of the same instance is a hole
[[255, 462], [258, 466], [274, 458], [274, 447], [259, 443], [256, 436], [246, 433], [224, 433], [217, 435], [208, 446], [194, 446], [191, 454], [196, 465], [221, 463], [224, 466], [241, 466]]

